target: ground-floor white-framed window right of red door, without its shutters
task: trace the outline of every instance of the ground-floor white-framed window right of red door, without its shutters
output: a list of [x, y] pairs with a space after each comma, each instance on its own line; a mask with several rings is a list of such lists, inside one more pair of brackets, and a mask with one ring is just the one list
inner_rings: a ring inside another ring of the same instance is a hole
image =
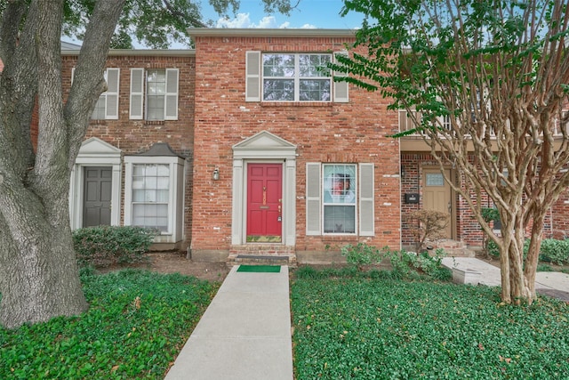
[[356, 233], [356, 165], [323, 165], [325, 233]]

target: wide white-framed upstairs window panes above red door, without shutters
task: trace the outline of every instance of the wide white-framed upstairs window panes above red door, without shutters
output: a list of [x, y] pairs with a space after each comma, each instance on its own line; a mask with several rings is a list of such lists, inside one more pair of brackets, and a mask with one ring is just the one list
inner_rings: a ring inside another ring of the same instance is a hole
[[331, 61], [332, 54], [263, 54], [263, 101], [331, 101]]

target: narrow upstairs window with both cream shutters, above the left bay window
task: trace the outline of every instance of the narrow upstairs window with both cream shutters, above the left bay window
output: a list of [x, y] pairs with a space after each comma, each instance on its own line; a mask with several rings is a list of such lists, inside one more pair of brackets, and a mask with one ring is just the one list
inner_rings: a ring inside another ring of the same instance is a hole
[[178, 119], [178, 69], [131, 69], [130, 118]]

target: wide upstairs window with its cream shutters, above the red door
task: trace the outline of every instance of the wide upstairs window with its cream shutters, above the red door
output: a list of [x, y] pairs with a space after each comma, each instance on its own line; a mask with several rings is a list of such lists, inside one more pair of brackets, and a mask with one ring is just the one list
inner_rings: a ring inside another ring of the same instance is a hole
[[[338, 52], [334, 54], [346, 54]], [[348, 102], [348, 83], [334, 82], [331, 53], [246, 53], [245, 101]]]

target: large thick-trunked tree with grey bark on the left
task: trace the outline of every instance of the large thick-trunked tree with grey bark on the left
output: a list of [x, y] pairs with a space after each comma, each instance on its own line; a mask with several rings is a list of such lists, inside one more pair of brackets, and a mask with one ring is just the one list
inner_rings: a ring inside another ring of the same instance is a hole
[[[291, 9], [289, 0], [263, 1], [272, 9]], [[220, 12], [238, 5], [235, 0], [211, 3]], [[191, 0], [0, 0], [4, 65], [0, 74], [0, 324], [4, 327], [87, 309], [69, 226], [69, 182], [92, 109], [106, 90], [103, 71], [109, 46], [113, 40], [130, 43], [130, 35], [125, 37], [128, 31], [146, 38], [152, 47], [164, 47], [164, 41], [183, 36], [186, 28], [203, 26], [196, 5]], [[164, 31], [165, 25], [171, 28]], [[60, 38], [79, 30], [83, 45], [66, 98]], [[36, 146], [30, 136], [35, 117]]]

